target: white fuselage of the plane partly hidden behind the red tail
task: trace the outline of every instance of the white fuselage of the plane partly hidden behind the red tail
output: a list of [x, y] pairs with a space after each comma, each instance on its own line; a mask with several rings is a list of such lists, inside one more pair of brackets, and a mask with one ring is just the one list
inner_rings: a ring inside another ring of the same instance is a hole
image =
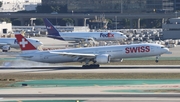
[[[42, 43], [37, 39], [27, 38], [35, 47], [39, 47]], [[9, 45], [11, 48], [20, 48], [16, 38], [0, 38], [0, 47]]]

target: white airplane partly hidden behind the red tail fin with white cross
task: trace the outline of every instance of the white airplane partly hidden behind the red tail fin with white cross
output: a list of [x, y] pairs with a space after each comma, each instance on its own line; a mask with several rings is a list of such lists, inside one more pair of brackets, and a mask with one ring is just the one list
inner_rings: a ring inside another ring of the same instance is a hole
[[[43, 43], [37, 39], [27, 38], [36, 48], [41, 46]], [[11, 48], [19, 49], [19, 44], [16, 38], [0, 38], [0, 48], [2, 52], [8, 52]]]

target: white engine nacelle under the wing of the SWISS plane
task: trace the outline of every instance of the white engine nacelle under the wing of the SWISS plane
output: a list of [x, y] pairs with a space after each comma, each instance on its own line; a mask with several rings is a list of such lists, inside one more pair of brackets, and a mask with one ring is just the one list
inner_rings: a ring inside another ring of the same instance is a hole
[[95, 62], [98, 64], [110, 63], [110, 55], [108, 54], [97, 55], [95, 58]]

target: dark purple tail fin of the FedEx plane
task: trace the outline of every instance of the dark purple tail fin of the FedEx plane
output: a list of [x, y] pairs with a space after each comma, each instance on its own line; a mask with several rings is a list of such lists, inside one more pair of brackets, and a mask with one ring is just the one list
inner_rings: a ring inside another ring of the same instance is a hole
[[47, 18], [44, 18], [43, 20], [44, 20], [46, 29], [48, 31], [48, 37], [54, 38], [54, 39], [59, 39], [59, 40], [64, 40], [61, 37], [61, 35], [59, 34], [59, 32], [57, 31], [57, 29], [53, 26], [53, 24]]

